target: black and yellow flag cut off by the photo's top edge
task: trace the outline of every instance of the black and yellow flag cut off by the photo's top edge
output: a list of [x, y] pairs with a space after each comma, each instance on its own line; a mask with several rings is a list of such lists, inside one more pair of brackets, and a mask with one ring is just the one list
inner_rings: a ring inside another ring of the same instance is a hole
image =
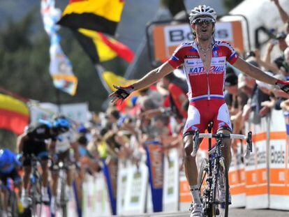
[[71, 29], [84, 28], [114, 35], [123, 8], [123, 0], [71, 0], [58, 24]]

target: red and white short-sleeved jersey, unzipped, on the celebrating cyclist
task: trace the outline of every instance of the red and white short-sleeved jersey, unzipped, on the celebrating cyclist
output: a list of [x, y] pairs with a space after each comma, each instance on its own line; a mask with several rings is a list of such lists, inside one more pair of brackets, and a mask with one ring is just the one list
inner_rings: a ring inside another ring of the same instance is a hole
[[238, 55], [225, 41], [212, 43], [212, 60], [206, 72], [195, 41], [182, 43], [177, 47], [168, 63], [173, 68], [184, 66], [190, 101], [200, 98], [223, 98], [226, 62], [233, 64]]

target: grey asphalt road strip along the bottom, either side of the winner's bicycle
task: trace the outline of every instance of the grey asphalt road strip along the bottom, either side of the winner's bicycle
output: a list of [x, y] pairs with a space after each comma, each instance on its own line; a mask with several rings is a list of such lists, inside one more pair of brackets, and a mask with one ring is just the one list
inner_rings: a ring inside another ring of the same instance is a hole
[[[144, 214], [138, 215], [140, 217], [189, 217], [189, 212], [178, 212], [178, 213], [159, 213], [159, 214]], [[279, 210], [269, 210], [269, 209], [258, 209], [258, 210], [250, 210], [250, 209], [230, 209], [229, 211], [230, 217], [289, 217], [289, 211], [279, 211]]]

